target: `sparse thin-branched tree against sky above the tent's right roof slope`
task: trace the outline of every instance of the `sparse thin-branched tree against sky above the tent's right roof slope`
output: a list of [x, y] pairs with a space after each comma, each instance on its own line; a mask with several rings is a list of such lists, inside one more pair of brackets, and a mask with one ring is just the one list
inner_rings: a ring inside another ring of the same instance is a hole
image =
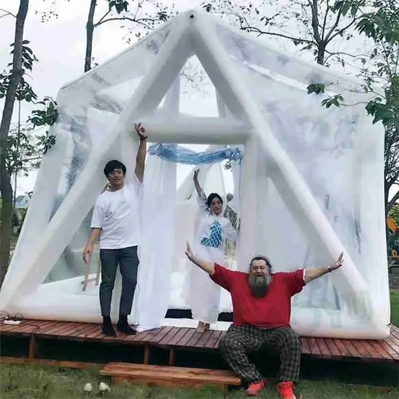
[[[353, 27], [360, 18], [366, 0], [287, 0], [242, 2], [211, 0], [202, 3], [208, 12], [227, 17], [241, 30], [257, 36], [267, 35], [301, 46], [300, 51], [312, 52], [316, 62], [329, 66], [346, 58], [358, 59], [359, 54], [340, 51], [342, 41], [353, 37]], [[296, 34], [287, 32], [297, 31]]]

